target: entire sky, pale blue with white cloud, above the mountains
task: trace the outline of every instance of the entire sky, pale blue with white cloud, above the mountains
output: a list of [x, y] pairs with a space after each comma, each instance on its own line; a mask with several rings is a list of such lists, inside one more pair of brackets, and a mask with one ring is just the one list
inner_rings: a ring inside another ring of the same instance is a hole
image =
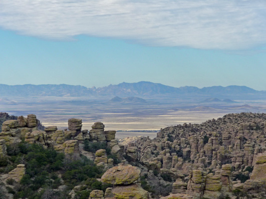
[[0, 84], [266, 90], [265, 0], [0, 0]]

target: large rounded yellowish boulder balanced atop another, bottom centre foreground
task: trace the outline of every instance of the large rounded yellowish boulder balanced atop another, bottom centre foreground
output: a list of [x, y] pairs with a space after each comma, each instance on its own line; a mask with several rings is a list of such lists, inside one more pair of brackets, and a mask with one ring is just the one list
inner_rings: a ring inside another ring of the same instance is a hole
[[140, 170], [133, 166], [117, 166], [108, 169], [102, 176], [102, 181], [113, 185], [129, 185], [140, 177]]

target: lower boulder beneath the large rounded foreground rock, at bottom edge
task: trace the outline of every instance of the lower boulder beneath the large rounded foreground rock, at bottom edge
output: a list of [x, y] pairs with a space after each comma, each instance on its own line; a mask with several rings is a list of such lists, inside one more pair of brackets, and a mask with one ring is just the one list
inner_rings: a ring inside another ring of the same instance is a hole
[[137, 184], [114, 186], [115, 199], [149, 199], [149, 193]]

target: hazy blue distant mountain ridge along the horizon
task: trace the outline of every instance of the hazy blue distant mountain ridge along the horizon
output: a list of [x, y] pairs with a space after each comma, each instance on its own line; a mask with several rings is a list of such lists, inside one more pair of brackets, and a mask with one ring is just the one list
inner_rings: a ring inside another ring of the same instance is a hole
[[246, 86], [213, 86], [199, 89], [197, 87], [175, 88], [152, 82], [121, 83], [109, 85], [101, 88], [86, 88], [84, 86], [73, 85], [3, 85], [0, 84], [0, 97], [86, 97], [86, 96], [112, 96], [112, 97], [180, 97], [202, 95], [206, 97], [221, 96], [266, 96], [265, 91], [256, 91]]

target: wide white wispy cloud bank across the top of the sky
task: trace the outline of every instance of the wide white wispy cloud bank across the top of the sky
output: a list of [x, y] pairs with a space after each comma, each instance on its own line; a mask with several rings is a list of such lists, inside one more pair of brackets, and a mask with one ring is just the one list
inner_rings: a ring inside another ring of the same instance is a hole
[[48, 39], [80, 34], [154, 46], [266, 43], [265, 0], [0, 0], [0, 27]]

